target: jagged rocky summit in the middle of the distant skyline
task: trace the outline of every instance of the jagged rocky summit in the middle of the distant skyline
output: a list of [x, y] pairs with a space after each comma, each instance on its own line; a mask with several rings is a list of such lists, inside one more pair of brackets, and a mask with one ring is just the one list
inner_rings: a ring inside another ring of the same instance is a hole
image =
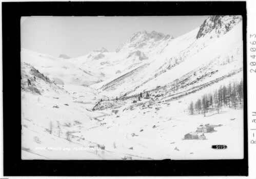
[[153, 46], [158, 45], [163, 40], [173, 39], [171, 35], [165, 35], [161, 32], [147, 32], [139, 31], [136, 32], [130, 37], [126, 42], [122, 43], [119, 48], [116, 49], [116, 52], [120, 52], [122, 49], [133, 48], [133, 49], [142, 49], [147, 46], [152, 48]]

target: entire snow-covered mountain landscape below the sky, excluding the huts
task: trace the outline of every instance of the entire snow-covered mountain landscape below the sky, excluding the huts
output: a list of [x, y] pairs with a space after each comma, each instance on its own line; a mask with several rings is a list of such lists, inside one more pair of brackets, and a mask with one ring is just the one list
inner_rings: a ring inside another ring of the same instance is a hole
[[241, 16], [176, 38], [137, 32], [115, 52], [21, 56], [25, 160], [243, 158]]

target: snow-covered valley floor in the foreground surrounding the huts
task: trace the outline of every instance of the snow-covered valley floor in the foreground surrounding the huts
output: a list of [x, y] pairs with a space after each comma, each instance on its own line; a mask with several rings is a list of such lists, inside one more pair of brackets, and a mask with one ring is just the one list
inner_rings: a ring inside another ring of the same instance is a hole
[[[69, 94], [22, 92], [23, 160], [243, 159], [242, 106], [223, 107], [219, 114], [212, 111], [206, 117], [198, 111], [190, 115], [186, 110], [191, 94], [152, 105], [143, 105], [143, 98], [135, 107], [127, 102], [120, 108], [93, 111], [104, 99], [94, 89], [61, 87]], [[204, 133], [206, 140], [184, 140], [201, 124], [214, 126], [214, 131]]]

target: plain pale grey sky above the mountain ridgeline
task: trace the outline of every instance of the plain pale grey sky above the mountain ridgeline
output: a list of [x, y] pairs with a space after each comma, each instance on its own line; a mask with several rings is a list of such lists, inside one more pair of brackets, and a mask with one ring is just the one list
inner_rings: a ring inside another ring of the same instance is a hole
[[21, 19], [21, 47], [58, 57], [83, 56], [95, 49], [113, 52], [138, 31], [181, 36], [208, 16], [51, 17]]

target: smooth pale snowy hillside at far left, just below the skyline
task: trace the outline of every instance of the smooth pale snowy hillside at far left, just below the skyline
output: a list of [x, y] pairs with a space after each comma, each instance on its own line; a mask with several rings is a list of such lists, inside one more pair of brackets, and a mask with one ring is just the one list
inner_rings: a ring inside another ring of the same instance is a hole
[[77, 84], [88, 86], [107, 79], [107, 75], [91, 66], [70, 63], [67, 57], [56, 58], [26, 49], [21, 51], [21, 61], [29, 63], [57, 84]]

